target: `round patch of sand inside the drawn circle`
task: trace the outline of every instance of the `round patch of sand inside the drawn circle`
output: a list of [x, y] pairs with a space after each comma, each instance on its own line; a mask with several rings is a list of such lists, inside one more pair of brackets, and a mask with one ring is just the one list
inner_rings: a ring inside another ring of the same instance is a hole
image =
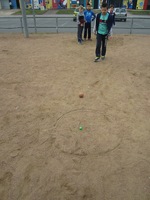
[[82, 156], [107, 153], [120, 145], [121, 127], [116, 116], [106, 116], [96, 110], [75, 110], [57, 121], [55, 147]]

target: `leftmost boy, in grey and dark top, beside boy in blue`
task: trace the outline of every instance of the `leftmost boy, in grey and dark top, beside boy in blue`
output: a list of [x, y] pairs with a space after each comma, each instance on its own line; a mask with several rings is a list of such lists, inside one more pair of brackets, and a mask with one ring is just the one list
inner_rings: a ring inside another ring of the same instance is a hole
[[84, 18], [84, 12], [83, 12], [83, 6], [79, 6], [79, 13], [77, 15], [77, 23], [78, 23], [78, 31], [77, 31], [77, 38], [78, 38], [78, 43], [82, 44], [82, 32], [83, 32], [83, 27], [85, 24], [85, 18]]

